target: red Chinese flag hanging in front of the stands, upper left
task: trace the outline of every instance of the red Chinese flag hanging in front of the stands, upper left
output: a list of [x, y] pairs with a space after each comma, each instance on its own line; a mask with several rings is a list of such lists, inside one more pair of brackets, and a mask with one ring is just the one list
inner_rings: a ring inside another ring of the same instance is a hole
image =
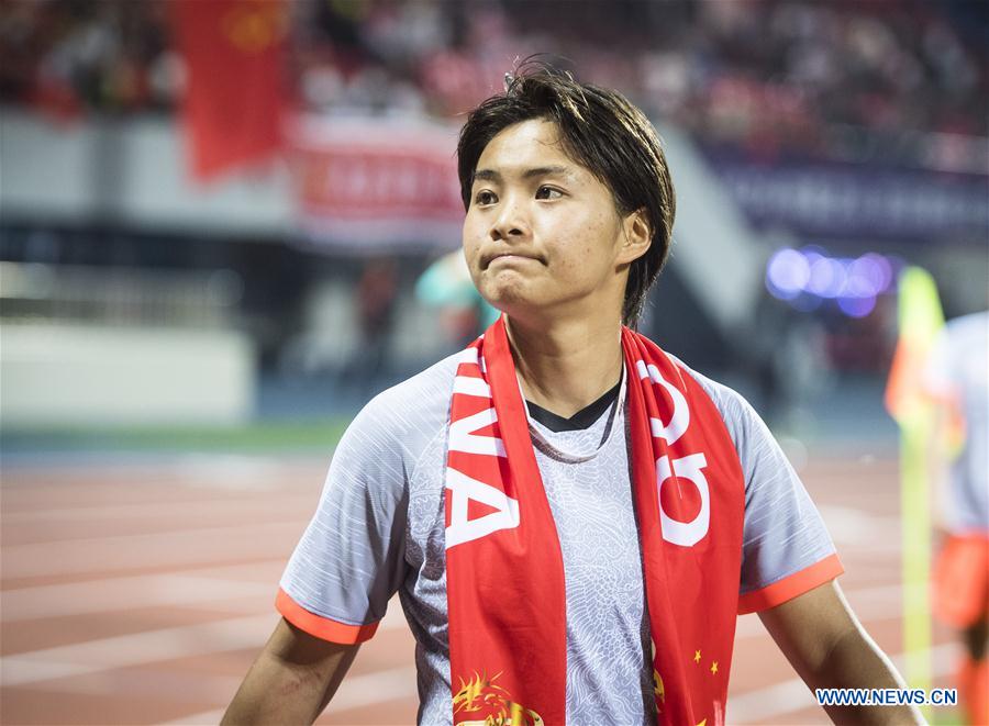
[[188, 72], [182, 116], [191, 170], [205, 180], [281, 145], [286, 0], [171, 0]]

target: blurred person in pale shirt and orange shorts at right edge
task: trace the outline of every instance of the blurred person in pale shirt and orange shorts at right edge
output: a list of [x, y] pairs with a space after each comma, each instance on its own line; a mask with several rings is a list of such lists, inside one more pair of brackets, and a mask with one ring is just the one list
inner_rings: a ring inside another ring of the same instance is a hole
[[964, 646], [956, 678], [968, 723], [989, 724], [989, 312], [945, 325], [923, 386], [938, 403], [933, 610]]

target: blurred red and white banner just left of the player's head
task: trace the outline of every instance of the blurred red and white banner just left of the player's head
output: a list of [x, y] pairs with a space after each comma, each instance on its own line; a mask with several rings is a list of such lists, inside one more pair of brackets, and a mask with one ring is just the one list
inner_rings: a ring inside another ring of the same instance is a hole
[[459, 244], [456, 126], [401, 118], [303, 118], [289, 134], [298, 223], [333, 249]]

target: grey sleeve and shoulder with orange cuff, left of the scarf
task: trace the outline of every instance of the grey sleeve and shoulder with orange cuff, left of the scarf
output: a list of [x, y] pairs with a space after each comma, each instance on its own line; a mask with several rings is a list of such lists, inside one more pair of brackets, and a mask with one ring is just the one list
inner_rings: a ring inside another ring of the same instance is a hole
[[374, 635], [409, 576], [409, 482], [444, 431], [457, 355], [375, 396], [347, 427], [315, 515], [282, 574], [276, 606], [337, 643]]

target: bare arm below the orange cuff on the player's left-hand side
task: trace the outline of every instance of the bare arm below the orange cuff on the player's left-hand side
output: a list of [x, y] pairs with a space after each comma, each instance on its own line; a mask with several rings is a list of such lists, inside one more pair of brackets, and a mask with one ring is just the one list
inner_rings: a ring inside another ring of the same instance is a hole
[[282, 618], [220, 723], [313, 723], [330, 703], [359, 647], [316, 638]]

